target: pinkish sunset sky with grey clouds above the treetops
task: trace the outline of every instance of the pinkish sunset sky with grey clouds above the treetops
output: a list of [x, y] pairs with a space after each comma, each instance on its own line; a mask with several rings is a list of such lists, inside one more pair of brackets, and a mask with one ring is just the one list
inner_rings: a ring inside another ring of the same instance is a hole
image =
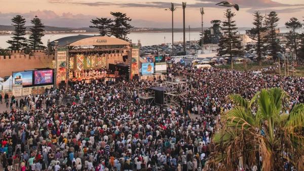
[[[186, 25], [201, 26], [200, 7], [204, 7], [204, 27], [210, 26], [213, 19], [223, 20], [225, 7], [216, 6], [221, 0], [189, 0], [186, 7]], [[59, 27], [88, 27], [90, 20], [96, 17], [111, 17], [110, 12], [123, 12], [132, 18], [135, 27], [170, 28], [171, 11], [165, 11], [170, 3], [177, 7], [174, 12], [174, 27], [182, 27], [181, 1], [167, 0], [0, 0], [0, 25], [10, 25], [11, 18], [22, 15], [30, 25], [30, 19], [35, 15], [40, 17], [45, 25]], [[251, 27], [253, 12], [262, 14], [276, 11], [279, 13], [279, 26], [290, 17], [299, 20], [304, 18], [303, 0], [230, 0], [240, 7], [235, 20], [238, 27]]]

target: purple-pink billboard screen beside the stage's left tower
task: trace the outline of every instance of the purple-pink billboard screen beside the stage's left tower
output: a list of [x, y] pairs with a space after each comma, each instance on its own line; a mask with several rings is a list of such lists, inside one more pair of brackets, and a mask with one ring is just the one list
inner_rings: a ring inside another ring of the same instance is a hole
[[52, 84], [53, 70], [39, 70], [34, 71], [34, 84]]

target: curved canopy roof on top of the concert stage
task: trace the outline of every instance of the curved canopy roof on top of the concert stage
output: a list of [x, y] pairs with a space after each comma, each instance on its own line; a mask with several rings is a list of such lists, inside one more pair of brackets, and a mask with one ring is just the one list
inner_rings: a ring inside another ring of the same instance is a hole
[[[89, 35], [69, 36], [57, 39], [55, 41], [58, 41], [59, 46], [64, 46], [66, 43], [69, 43], [69, 46], [130, 45], [130, 42], [118, 38]], [[50, 44], [54, 46], [55, 41], [52, 41]]]

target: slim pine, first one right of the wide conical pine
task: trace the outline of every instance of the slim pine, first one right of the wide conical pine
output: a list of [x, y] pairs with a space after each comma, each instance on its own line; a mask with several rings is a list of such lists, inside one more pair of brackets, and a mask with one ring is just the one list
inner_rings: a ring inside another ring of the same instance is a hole
[[256, 40], [254, 49], [257, 54], [257, 61], [259, 62], [259, 65], [261, 65], [262, 56], [266, 53], [266, 48], [264, 46], [265, 39], [262, 36], [262, 33], [265, 32], [267, 28], [263, 24], [264, 17], [260, 14], [259, 11], [256, 11], [253, 16], [254, 19], [252, 24], [254, 27], [249, 31], [249, 37], [253, 40]]

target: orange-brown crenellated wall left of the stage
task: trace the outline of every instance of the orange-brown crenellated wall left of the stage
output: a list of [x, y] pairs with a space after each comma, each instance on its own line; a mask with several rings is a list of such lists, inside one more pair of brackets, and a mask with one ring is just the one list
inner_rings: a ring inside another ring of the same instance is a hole
[[48, 57], [41, 50], [32, 51], [33, 56], [24, 55], [23, 52], [12, 51], [11, 56], [0, 56], [0, 77], [10, 76], [15, 71], [52, 67], [54, 56]]

